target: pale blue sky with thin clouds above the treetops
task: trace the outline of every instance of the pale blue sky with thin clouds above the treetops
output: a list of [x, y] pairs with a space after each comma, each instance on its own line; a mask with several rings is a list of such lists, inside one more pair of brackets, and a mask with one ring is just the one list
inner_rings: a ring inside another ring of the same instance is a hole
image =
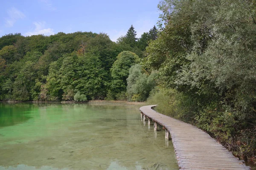
[[139, 38], [157, 20], [159, 0], [3, 0], [0, 4], [0, 37], [58, 32], [106, 33], [116, 41], [131, 25]]

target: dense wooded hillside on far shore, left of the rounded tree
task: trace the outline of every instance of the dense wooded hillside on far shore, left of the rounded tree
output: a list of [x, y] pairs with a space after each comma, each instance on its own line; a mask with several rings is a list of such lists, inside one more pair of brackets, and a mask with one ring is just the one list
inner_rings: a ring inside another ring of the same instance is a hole
[[[73, 100], [78, 91], [88, 99], [104, 99], [112, 79], [110, 68], [125, 49], [106, 34], [92, 32], [9, 34], [0, 40], [1, 100]], [[26, 77], [28, 64], [31, 73]]]

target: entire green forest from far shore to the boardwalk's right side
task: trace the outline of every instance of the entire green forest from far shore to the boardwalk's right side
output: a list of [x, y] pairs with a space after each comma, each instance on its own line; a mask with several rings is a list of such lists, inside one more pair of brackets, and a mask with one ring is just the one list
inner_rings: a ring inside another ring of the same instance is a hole
[[0, 38], [0, 100], [128, 100], [207, 131], [256, 163], [256, 1], [161, 0], [157, 27], [112, 42], [59, 32]]

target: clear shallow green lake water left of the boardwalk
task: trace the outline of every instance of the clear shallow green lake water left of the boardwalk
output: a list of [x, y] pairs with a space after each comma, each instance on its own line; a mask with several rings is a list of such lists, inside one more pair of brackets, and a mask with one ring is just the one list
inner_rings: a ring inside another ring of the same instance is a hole
[[138, 105], [0, 103], [0, 170], [177, 170]]

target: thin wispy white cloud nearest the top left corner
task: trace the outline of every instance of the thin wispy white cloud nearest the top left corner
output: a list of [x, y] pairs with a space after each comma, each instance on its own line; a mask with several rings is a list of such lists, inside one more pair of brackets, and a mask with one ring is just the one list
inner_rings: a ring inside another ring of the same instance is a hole
[[12, 7], [10, 8], [8, 11], [8, 17], [5, 19], [6, 20], [6, 27], [12, 27], [14, 25], [14, 23], [18, 20], [18, 19], [23, 19], [26, 16], [19, 11], [17, 8]]

